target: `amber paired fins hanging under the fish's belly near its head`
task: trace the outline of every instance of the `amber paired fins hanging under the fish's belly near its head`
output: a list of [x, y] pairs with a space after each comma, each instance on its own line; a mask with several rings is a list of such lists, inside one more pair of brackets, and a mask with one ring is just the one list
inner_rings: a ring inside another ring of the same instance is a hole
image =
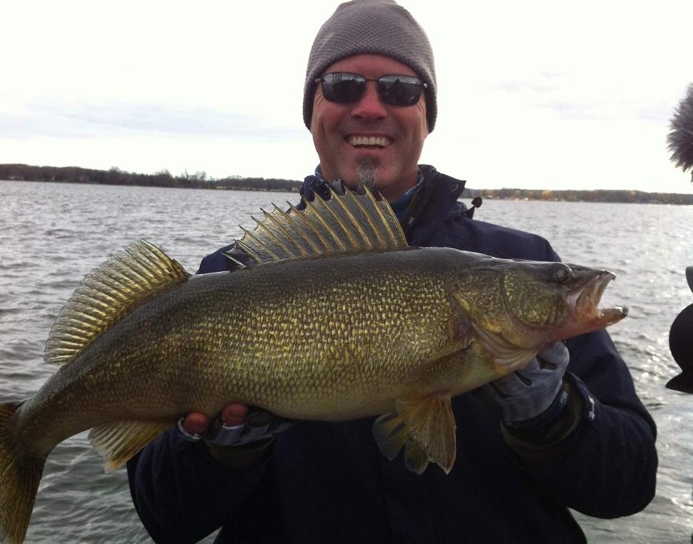
[[412, 401], [397, 401], [397, 413], [380, 416], [373, 435], [389, 459], [405, 446], [404, 462], [421, 474], [429, 460], [445, 473], [455, 462], [455, 419], [449, 395], [432, 395]]

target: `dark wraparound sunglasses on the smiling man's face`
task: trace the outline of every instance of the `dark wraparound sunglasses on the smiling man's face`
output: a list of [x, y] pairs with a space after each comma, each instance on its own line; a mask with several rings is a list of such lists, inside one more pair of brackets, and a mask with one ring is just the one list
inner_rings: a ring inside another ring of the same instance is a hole
[[366, 79], [359, 74], [332, 72], [314, 82], [322, 82], [322, 94], [330, 102], [353, 104], [358, 102], [366, 90], [367, 81], [377, 81], [378, 96], [391, 106], [413, 106], [419, 101], [422, 89], [427, 89], [419, 78], [414, 76], [384, 76], [380, 79]]

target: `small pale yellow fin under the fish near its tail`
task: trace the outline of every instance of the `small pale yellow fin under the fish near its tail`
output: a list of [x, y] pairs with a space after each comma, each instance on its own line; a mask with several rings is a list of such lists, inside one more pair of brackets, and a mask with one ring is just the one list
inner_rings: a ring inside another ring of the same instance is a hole
[[89, 440], [106, 461], [104, 470], [121, 467], [139, 450], [171, 426], [171, 422], [118, 421], [91, 429]]

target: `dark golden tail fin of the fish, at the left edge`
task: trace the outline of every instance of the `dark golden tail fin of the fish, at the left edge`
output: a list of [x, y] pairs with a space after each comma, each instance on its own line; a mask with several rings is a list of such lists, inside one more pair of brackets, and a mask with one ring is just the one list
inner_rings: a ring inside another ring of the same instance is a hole
[[21, 403], [0, 403], [0, 542], [21, 543], [34, 509], [45, 458], [21, 450], [12, 416]]

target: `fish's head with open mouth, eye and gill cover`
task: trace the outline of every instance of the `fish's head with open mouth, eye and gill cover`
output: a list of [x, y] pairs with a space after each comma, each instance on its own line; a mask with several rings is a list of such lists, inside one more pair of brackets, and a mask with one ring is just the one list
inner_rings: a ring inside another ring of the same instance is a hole
[[566, 263], [485, 258], [457, 275], [455, 298], [477, 331], [517, 348], [541, 348], [627, 316], [599, 308], [614, 273]]

